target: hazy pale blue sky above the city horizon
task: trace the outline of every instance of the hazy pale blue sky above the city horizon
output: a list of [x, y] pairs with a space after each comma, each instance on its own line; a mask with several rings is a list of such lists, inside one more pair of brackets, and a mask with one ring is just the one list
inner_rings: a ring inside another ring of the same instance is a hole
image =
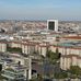
[[81, 20], [81, 0], [0, 0], [0, 19]]

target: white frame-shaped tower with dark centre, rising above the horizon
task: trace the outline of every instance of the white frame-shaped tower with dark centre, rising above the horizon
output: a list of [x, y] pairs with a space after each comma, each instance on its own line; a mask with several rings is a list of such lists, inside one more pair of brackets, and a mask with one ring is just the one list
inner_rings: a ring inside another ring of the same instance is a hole
[[47, 30], [58, 32], [58, 20], [47, 20]]

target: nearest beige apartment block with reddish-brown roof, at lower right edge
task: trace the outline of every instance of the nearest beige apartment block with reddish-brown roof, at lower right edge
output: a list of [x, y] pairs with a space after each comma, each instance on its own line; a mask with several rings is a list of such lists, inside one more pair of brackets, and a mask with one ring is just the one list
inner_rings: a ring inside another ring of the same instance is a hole
[[81, 68], [81, 56], [79, 55], [62, 55], [60, 58], [60, 67], [63, 70], [70, 68], [70, 66], [79, 66]]

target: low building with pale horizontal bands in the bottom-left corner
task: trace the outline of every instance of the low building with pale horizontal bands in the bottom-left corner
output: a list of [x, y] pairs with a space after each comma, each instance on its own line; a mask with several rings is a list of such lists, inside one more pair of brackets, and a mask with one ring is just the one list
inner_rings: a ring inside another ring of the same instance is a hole
[[3, 70], [2, 77], [7, 78], [8, 81], [24, 81], [24, 68], [21, 65], [12, 66]]

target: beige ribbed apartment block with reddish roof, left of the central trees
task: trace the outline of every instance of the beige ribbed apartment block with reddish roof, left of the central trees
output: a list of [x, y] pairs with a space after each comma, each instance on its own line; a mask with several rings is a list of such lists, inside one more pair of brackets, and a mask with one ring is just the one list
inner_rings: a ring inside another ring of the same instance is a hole
[[38, 53], [39, 55], [46, 56], [48, 45], [39, 44], [39, 43], [23, 43], [22, 44], [22, 53], [24, 54], [33, 54]]

